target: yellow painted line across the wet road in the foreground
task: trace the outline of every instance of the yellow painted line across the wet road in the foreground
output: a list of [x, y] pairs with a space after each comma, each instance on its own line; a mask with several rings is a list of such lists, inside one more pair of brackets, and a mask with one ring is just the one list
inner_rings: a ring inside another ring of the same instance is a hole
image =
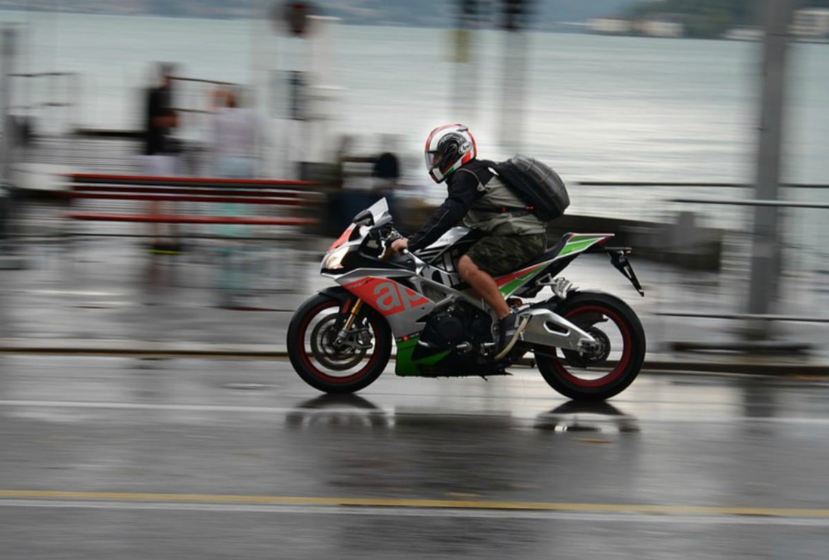
[[487, 501], [476, 499], [331, 498], [250, 494], [162, 494], [154, 492], [71, 492], [61, 490], [0, 490], [0, 499], [86, 499], [122, 502], [191, 504], [326, 505], [387, 508], [503, 509], [569, 511], [613, 514], [764, 515], [829, 518], [829, 509], [697, 506], [670, 504], [584, 504], [557, 502]]

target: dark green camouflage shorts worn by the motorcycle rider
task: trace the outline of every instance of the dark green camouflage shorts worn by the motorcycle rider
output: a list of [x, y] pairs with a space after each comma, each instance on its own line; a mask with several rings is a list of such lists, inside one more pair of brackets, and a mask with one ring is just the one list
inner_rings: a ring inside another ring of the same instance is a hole
[[484, 237], [469, 248], [467, 256], [478, 268], [493, 276], [500, 276], [541, 256], [547, 245], [544, 233], [526, 236]]

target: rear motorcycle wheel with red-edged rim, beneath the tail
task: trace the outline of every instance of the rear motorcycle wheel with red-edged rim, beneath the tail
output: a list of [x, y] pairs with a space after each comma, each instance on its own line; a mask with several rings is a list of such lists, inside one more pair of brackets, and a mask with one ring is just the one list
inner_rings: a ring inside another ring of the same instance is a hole
[[537, 348], [541, 377], [575, 400], [602, 401], [623, 392], [645, 359], [645, 331], [633, 309], [613, 295], [577, 292], [555, 313], [587, 331], [597, 344], [589, 353]]

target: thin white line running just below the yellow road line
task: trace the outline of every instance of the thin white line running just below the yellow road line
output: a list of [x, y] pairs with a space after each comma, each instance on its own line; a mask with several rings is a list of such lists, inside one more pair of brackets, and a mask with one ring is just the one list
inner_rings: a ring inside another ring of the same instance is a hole
[[311, 515], [381, 515], [387, 517], [540, 519], [589, 521], [594, 523], [696, 523], [729, 525], [765, 525], [785, 527], [829, 527], [827, 517], [787, 517], [772, 515], [688, 515], [640, 514], [625, 512], [584, 513], [566, 511], [526, 511], [503, 509], [401, 508], [371, 506], [319, 506], [274, 504], [179, 504], [174, 502], [124, 502], [92, 500], [0, 499], [0, 508], [121, 509], [149, 511], [200, 511], [229, 514], [311, 514]]

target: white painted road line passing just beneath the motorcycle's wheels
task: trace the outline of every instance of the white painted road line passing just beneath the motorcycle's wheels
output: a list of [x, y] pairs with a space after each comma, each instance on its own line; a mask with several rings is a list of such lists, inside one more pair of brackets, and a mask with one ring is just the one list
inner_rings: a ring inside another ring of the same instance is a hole
[[579, 416], [584, 420], [589, 421], [634, 421], [634, 422], [662, 422], [662, 423], [696, 423], [696, 424], [720, 424], [734, 421], [757, 422], [768, 424], [792, 424], [792, 425], [812, 425], [812, 426], [829, 426], [829, 416], [827, 417], [797, 417], [784, 418], [778, 416], [703, 416], [700, 414], [690, 416], [662, 416], [662, 415], [638, 415], [638, 414], [602, 414], [599, 412], [579, 411], [579, 412], [537, 412], [537, 411], [458, 411], [440, 410], [435, 408], [427, 408], [423, 411], [417, 411], [415, 408], [408, 407], [404, 403], [405, 410], [396, 411], [395, 405], [390, 407], [376, 407], [376, 408], [355, 408], [343, 405], [342, 407], [321, 407], [321, 408], [303, 408], [303, 407], [251, 407], [251, 406], [237, 406], [237, 405], [188, 405], [188, 404], [155, 404], [152, 402], [95, 402], [95, 401], [26, 401], [26, 400], [0, 400], [0, 407], [40, 407], [40, 408], [90, 408], [90, 409], [109, 409], [109, 410], [149, 410], [149, 411], [194, 411], [194, 412], [248, 412], [248, 413], [264, 413], [264, 414], [287, 414], [288, 412], [303, 411], [308, 413], [313, 412], [351, 412], [354, 414], [377, 414], [386, 413], [395, 416], [497, 416], [500, 418], [512, 418], [516, 420], [538, 420], [539, 418], [570, 418], [572, 416]]

